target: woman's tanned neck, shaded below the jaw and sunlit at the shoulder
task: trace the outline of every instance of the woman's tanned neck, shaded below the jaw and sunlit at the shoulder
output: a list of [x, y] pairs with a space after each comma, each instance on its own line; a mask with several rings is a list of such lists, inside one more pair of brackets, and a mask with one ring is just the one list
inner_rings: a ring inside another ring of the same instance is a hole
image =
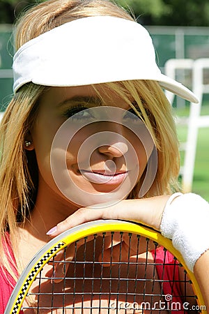
[[38, 252], [51, 239], [47, 231], [73, 214], [78, 207], [58, 195], [46, 184], [40, 184], [36, 204], [31, 216], [22, 227], [15, 232], [13, 250], [18, 268], [23, 269]]

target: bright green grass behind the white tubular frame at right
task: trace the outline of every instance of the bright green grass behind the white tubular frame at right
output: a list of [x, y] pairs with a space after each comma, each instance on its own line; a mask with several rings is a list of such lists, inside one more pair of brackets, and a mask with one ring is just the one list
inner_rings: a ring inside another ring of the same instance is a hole
[[[178, 116], [187, 116], [189, 109], [184, 107], [175, 112]], [[209, 104], [202, 106], [201, 114], [209, 115]], [[178, 126], [178, 137], [180, 142], [185, 142], [187, 137], [185, 126]], [[182, 152], [180, 155], [183, 165], [184, 153]], [[201, 195], [209, 202], [209, 127], [199, 128], [192, 192]]]

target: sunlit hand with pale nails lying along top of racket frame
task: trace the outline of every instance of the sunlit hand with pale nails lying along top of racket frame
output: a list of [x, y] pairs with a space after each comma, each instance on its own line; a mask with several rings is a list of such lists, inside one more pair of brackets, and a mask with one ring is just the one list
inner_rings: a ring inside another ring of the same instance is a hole
[[93, 207], [81, 208], [49, 230], [47, 234], [50, 237], [56, 237], [76, 225], [98, 219], [130, 220], [159, 230], [167, 200], [169, 200], [169, 195], [162, 195], [140, 200], [122, 200], [114, 205], [101, 204], [101, 207], [96, 209]]

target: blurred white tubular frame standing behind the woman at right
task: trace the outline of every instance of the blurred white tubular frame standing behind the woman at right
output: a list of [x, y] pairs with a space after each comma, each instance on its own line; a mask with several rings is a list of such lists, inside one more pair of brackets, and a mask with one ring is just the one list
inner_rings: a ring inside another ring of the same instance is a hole
[[[196, 157], [196, 144], [199, 128], [209, 127], [209, 116], [201, 116], [201, 105], [203, 94], [209, 94], [209, 82], [204, 82], [204, 70], [209, 69], [209, 58], [201, 59], [170, 59], [165, 64], [165, 74], [176, 78], [176, 70], [189, 69], [192, 71], [192, 91], [199, 98], [199, 105], [190, 104], [189, 118], [186, 120], [187, 142], [185, 142], [185, 160], [181, 170], [183, 176], [183, 191], [190, 192], [192, 190], [192, 181], [194, 177], [194, 163]], [[167, 98], [173, 102], [173, 94], [166, 91]], [[181, 123], [181, 119], [178, 119]], [[208, 141], [209, 149], [209, 141]]]

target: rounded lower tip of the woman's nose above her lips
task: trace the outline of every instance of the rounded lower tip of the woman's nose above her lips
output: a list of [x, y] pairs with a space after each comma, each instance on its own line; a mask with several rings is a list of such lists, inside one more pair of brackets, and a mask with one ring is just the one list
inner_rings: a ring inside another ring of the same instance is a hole
[[124, 142], [115, 142], [109, 145], [102, 145], [98, 150], [100, 151], [100, 154], [105, 154], [110, 158], [119, 158], [127, 153], [128, 147]]

